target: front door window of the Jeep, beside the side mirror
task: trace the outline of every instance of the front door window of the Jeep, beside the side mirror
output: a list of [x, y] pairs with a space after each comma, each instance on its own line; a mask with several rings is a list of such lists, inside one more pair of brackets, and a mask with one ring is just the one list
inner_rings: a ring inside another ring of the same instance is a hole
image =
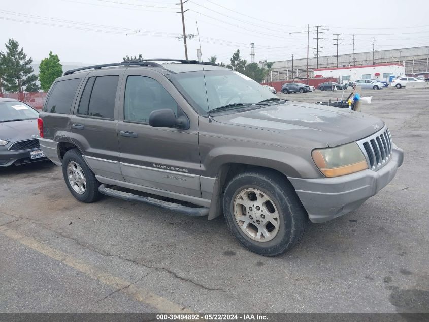
[[177, 103], [153, 78], [128, 76], [125, 86], [124, 119], [147, 123], [152, 111], [169, 108], [177, 115]]

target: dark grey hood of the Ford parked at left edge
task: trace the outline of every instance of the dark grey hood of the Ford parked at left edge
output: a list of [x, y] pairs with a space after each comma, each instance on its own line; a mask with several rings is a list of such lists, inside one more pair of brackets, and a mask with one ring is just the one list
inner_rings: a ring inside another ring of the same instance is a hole
[[0, 122], [0, 139], [17, 142], [39, 138], [37, 120]]

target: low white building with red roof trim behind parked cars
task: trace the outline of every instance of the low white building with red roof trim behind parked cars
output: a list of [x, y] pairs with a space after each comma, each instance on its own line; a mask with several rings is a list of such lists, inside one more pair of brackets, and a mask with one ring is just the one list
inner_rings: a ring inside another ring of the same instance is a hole
[[378, 79], [391, 82], [392, 78], [405, 75], [405, 67], [400, 64], [376, 64], [339, 68], [319, 68], [313, 71], [314, 78], [334, 77], [342, 84], [357, 79]]

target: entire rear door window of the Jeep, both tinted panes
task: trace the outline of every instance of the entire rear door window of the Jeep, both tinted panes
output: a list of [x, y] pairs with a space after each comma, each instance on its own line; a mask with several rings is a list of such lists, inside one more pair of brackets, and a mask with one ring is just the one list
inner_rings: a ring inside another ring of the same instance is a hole
[[79, 102], [78, 115], [113, 119], [119, 76], [90, 77]]

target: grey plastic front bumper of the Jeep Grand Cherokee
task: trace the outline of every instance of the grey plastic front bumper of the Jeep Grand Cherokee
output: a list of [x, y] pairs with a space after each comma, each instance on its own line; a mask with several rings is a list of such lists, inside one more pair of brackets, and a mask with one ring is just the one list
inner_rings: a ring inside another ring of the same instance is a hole
[[393, 145], [390, 160], [378, 171], [367, 169], [335, 178], [288, 179], [309, 219], [320, 223], [360, 207], [394, 178], [403, 159], [404, 151]]

